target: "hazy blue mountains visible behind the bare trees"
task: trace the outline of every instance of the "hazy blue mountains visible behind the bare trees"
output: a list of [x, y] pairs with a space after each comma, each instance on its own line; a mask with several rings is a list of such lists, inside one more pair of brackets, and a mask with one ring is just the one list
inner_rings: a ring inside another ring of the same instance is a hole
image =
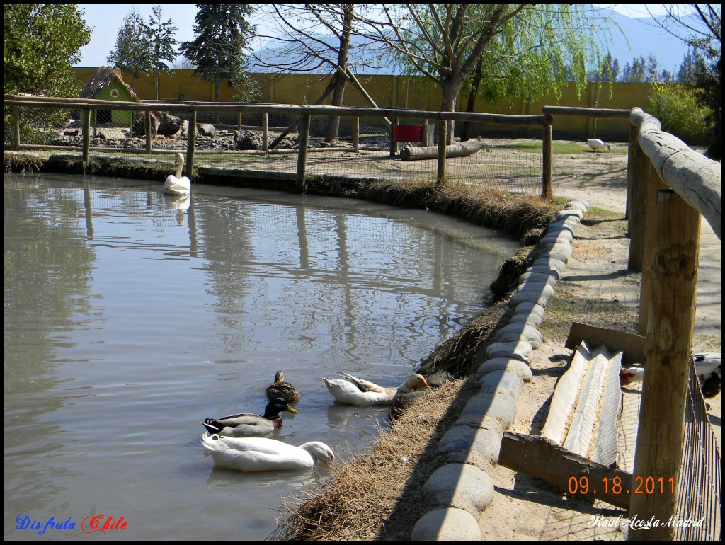
[[[610, 9], [600, 9], [599, 13], [602, 17], [611, 17], [618, 25], [613, 28], [608, 43], [602, 46], [602, 56], [609, 51], [613, 59], [618, 59], [620, 70], [624, 70], [624, 65], [631, 65], [635, 57], [650, 57], [652, 55], [658, 60], [658, 72], [669, 70], [676, 75], [679, 65], [682, 63], [684, 55], [687, 53], [687, 45], [682, 40], [675, 38], [666, 30], [658, 25], [653, 17], [633, 18], [619, 14]], [[620, 30], [621, 29], [621, 30]], [[324, 41], [334, 44], [334, 38], [323, 38]], [[379, 49], [375, 47], [365, 47], [363, 38], [354, 36], [352, 38], [352, 49], [350, 56], [350, 65], [353, 71], [359, 75], [376, 75], [376, 74], [399, 74], [401, 71], [389, 64], [389, 57], [386, 61], [379, 59], [381, 57]], [[285, 47], [262, 47], [257, 51], [257, 57], [263, 59], [265, 63], [271, 67], [260, 67], [259, 65], [251, 67], [251, 72], [278, 72], [284, 62], [289, 62], [295, 57], [299, 57], [302, 53], [301, 49]], [[385, 57], [384, 57], [385, 59]], [[307, 67], [316, 67], [314, 72], [329, 73], [328, 65], [319, 65], [318, 61], [310, 59], [307, 61]], [[621, 74], [621, 72], [620, 72]]]

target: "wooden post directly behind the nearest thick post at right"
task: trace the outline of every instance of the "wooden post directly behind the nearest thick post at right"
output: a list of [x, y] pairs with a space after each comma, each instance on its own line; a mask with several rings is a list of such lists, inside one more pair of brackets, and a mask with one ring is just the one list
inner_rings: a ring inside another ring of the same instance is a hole
[[[642, 186], [638, 192], [642, 203], [639, 205], [639, 221], [642, 222], [642, 231], [638, 236], [639, 250], [637, 251], [637, 262], [641, 264], [642, 285], [639, 288], [639, 323], [637, 333], [647, 335], [647, 324], [650, 322], [650, 297], [653, 294], [652, 256], [655, 251], [655, 237], [658, 236], [655, 230], [655, 217], [657, 215], [657, 192], [666, 189], [667, 186], [660, 178], [657, 170], [653, 167], [648, 157], [642, 157], [643, 163], [639, 168], [645, 175], [639, 177], [638, 185]], [[631, 241], [629, 249], [631, 252]]]

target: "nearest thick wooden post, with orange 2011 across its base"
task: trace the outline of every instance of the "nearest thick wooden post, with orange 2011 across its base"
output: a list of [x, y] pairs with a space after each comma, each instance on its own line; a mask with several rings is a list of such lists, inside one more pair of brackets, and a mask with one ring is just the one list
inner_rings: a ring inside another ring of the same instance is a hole
[[[660, 525], [630, 531], [630, 541], [674, 538], [675, 528], [667, 521], [676, 509], [695, 330], [700, 213], [670, 189], [658, 191], [655, 200], [653, 291], [650, 301], [643, 301], [650, 305], [652, 319], [647, 327], [646, 370], [634, 455], [635, 491], [629, 517], [645, 521], [654, 518]], [[640, 482], [642, 494], [637, 494]], [[656, 494], [647, 494], [648, 482], [655, 484]], [[671, 493], [673, 488], [675, 494]]]

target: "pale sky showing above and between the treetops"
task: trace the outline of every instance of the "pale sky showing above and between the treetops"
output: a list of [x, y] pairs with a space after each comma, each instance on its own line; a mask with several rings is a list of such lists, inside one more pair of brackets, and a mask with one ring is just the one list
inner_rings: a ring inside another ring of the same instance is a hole
[[[194, 17], [196, 17], [196, 4], [161, 4], [163, 11], [163, 20], [171, 19], [176, 25], [177, 31], [175, 38], [177, 41], [191, 41], [194, 39]], [[628, 17], [649, 17], [650, 12], [652, 14], [662, 14], [663, 6], [666, 4], [595, 4], [600, 7], [608, 7], [614, 9], [617, 12], [624, 14]], [[76, 66], [83, 67], [98, 67], [107, 65], [106, 57], [115, 45], [116, 35], [118, 29], [123, 22], [130, 9], [136, 8], [141, 16], [145, 20], [148, 20], [149, 15], [152, 14], [152, 7], [154, 4], [78, 4], [79, 9], [85, 13], [86, 24], [91, 26], [93, 35], [91, 36], [91, 43], [88, 46], [83, 47], [80, 53], [83, 55], [82, 59]], [[650, 12], [647, 11], [649, 7]], [[264, 25], [264, 21], [261, 19], [255, 20], [252, 17], [252, 22], [260, 25]], [[644, 25], [643, 25], [644, 26]], [[650, 28], [651, 31], [658, 32], [657, 28]], [[650, 31], [645, 27], [645, 31]], [[661, 32], [661, 30], [659, 30]], [[259, 46], [257, 43], [256, 46]], [[256, 47], [254, 48], [256, 49]], [[621, 65], [624, 66], [624, 62], [631, 61], [631, 58], [635, 55], [640, 54], [647, 57], [651, 51], [631, 51], [631, 55], [624, 55], [620, 58]], [[672, 57], [672, 56], [670, 56]], [[679, 63], [682, 61], [682, 55], [679, 55], [676, 59], [658, 59], [660, 67], [674, 71], [676, 67], [679, 67]]]

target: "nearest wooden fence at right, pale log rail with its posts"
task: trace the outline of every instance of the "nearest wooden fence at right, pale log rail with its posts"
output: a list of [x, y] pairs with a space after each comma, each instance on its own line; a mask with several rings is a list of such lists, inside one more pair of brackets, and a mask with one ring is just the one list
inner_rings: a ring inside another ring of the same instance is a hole
[[[629, 268], [642, 271], [638, 330], [645, 335], [645, 373], [634, 479], [679, 483], [684, 402], [692, 365], [697, 309], [700, 214], [722, 240], [722, 165], [661, 130], [660, 121], [634, 108], [629, 154], [631, 237]], [[629, 516], [667, 521], [676, 494], [633, 494]], [[630, 533], [631, 541], [671, 541], [660, 524]]]

